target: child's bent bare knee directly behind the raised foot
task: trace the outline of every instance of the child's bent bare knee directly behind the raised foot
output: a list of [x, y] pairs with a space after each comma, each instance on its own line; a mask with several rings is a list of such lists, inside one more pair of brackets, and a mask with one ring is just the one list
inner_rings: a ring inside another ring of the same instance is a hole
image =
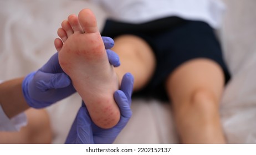
[[120, 57], [121, 66], [115, 71], [121, 79], [125, 73], [134, 76], [134, 90], [140, 90], [149, 82], [155, 70], [156, 60], [150, 46], [135, 35], [121, 35], [112, 48]]

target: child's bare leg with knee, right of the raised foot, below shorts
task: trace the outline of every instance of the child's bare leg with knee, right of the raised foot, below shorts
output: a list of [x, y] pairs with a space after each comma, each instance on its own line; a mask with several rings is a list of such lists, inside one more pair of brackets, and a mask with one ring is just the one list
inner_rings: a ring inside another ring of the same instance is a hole
[[225, 143], [219, 100], [224, 76], [218, 64], [194, 59], [168, 77], [167, 92], [182, 143]]

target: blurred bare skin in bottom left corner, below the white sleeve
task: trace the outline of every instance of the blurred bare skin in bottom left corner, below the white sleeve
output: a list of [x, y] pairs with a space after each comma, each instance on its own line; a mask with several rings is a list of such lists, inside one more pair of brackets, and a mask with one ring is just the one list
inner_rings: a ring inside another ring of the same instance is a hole
[[48, 113], [44, 109], [30, 108], [25, 114], [28, 125], [19, 132], [0, 132], [0, 143], [51, 143], [52, 131]]

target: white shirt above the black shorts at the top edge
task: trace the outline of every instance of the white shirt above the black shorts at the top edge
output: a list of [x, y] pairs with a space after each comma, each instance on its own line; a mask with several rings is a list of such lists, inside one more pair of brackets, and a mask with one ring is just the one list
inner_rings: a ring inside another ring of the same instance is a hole
[[121, 22], [142, 23], [178, 16], [201, 20], [219, 28], [225, 6], [220, 0], [91, 0], [103, 7], [109, 18]]

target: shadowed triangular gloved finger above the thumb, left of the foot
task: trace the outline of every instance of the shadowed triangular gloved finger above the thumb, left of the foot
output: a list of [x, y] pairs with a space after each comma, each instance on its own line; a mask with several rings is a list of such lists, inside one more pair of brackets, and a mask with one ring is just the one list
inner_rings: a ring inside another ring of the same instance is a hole
[[62, 68], [59, 65], [59, 58], [58, 58], [58, 52], [55, 53], [46, 64], [42, 66], [42, 68], [39, 69], [40, 71], [43, 71], [45, 73], [64, 73]]

